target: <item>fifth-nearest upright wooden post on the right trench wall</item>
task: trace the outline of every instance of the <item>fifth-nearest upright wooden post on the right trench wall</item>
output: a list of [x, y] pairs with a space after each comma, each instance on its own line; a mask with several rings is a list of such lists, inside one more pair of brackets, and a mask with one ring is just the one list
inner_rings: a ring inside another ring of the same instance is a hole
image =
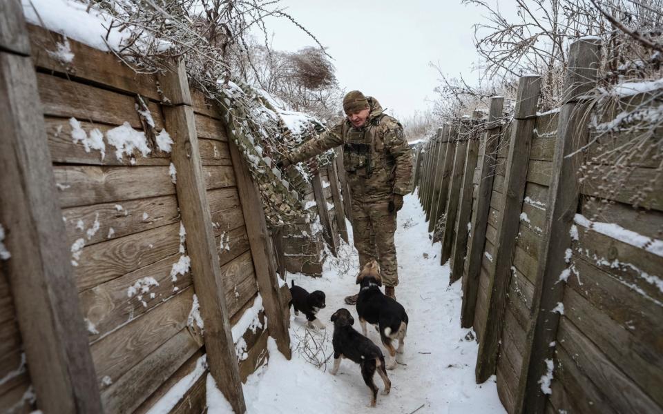
[[445, 225], [442, 235], [442, 255], [440, 264], [445, 264], [451, 257], [451, 246], [454, 239], [456, 216], [458, 213], [458, 199], [461, 193], [461, 181], [463, 179], [463, 168], [465, 168], [465, 148], [468, 145], [469, 126], [463, 121], [459, 128], [458, 139], [454, 148], [454, 164], [450, 177], [449, 192], [445, 208]]

